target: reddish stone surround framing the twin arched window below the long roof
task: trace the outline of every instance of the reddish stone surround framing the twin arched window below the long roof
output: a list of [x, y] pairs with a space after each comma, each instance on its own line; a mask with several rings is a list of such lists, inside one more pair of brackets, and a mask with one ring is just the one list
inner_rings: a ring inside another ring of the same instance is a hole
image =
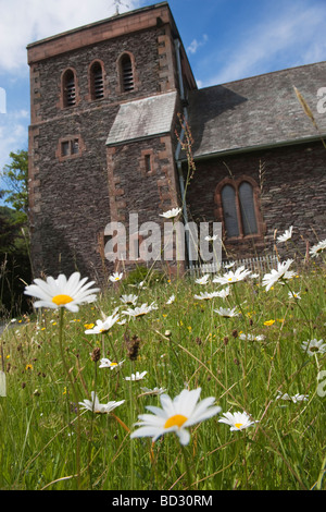
[[[254, 214], [255, 214], [255, 220], [256, 220], [256, 227], [258, 227], [256, 233], [247, 234], [247, 235], [243, 234], [241, 211], [240, 211], [240, 206], [239, 206], [239, 192], [238, 192], [239, 186], [243, 182], [248, 182], [252, 186], [253, 206], [254, 206]], [[222, 205], [222, 188], [225, 185], [233, 186], [236, 193], [236, 208], [237, 208], [238, 225], [239, 225], [239, 233], [240, 233], [238, 236], [228, 237], [226, 235], [224, 215], [223, 215], [223, 205]], [[214, 203], [216, 205], [215, 218], [217, 219], [217, 221], [222, 222], [223, 234], [226, 236], [227, 241], [233, 242], [233, 241], [241, 241], [241, 240], [248, 240], [248, 239], [255, 239], [255, 240], [263, 239], [266, 227], [265, 227], [265, 222], [263, 221], [263, 217], [260, 210], [260, 187], [258, 183], [251, 176], [242, 174], [236, 180], [231, 178], [224, 178], [215, 188]]]

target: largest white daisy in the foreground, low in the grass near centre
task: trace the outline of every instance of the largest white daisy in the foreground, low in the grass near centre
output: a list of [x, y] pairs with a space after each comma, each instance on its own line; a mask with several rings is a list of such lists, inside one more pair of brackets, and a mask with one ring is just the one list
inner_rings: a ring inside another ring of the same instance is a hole
[[213, 406], [214, 397], [209, 397], [198, 403], [201, 388], [192, 391], [184, 389], [174, 400], [167, 394], [161, 394], [162, 409], [148, 405], [148, 411], [153, 414], [140, 414], [138, 416], [140, 420], [135, 424], [140, 428], [130, 437], [151, 437], [154, 442], [164, 434], [175, 432], [181, 444], [188, 444], [190, 434], [187, 428], [222, 411], [220, 406]]

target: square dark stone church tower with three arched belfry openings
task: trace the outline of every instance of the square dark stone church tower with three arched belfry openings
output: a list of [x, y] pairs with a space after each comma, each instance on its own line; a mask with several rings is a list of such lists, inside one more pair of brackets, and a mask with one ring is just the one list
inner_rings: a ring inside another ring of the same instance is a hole
[[109, 222], [158, 222], [178, 204], [175, 130], [196, 82], [167, 2], [27, 52], [34, 272], [101, 278]]

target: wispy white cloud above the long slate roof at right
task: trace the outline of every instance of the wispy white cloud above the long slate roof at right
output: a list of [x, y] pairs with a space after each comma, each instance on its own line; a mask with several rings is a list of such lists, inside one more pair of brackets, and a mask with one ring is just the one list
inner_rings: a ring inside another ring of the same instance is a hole
[[201, 81], [210, 86], [280, 69], [277, 62], [284, 68], [325, 60], [325, 24], [326, 7], [290, 7], [230, 41], [227, 54], [220, 52], [214, 61], [220, 71], [213, 75], [210, 54], [210, 76]]

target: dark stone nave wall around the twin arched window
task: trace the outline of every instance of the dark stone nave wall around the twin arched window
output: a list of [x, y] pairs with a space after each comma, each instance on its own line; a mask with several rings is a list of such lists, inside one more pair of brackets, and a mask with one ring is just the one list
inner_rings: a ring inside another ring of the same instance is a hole
[[274, 232], [293, 225], [288, 246], [277, 244], [280, 255], [304, 255], [310, 245], [326, 237], [326, 149], [322, 142], [197, 161], [187, 203], [196, 221], [222, 221], [216, 217], [215, 190], [233, 175], [248, 175], [261, 187], [260, 207], [265, 223], [262, 240], [224, 241], [229, 256], [247, 258], [271, 253]]

